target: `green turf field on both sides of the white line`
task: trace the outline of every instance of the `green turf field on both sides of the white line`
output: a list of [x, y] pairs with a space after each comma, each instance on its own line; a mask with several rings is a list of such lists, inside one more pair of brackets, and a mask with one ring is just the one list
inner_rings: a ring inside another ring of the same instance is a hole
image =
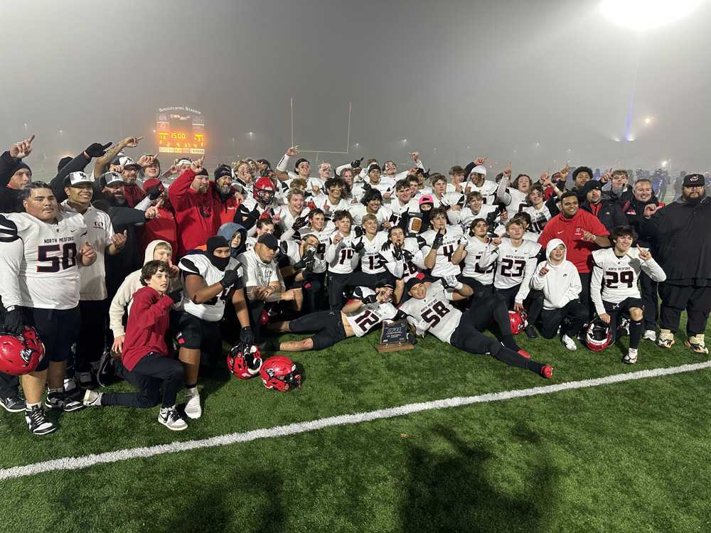
[[[104, 408], [37, 438], [3, 411], [0, 468], [706, 359], [683, 336], [643, 340], [633, 366], [619, 346], [517, 340], [554, 379], [434, 338], [380, 355], [370, 334], [295, 354], [287, 394], [213, 373], [181, 433], [157, 408]], [[706, 369], [2, 480], [3, 531], [709, 532], [710, 384]]]

